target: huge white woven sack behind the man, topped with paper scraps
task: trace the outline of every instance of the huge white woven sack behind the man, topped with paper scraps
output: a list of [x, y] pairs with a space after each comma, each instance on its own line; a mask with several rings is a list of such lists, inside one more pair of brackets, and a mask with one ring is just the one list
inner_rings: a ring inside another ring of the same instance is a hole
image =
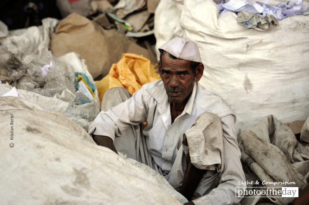
[[247, 30], [237, 24], [236, 14], [218, 15], [212, 0], [172, 2], [174, 6], [169, 6], [181, 13], [182, 31], [162, 29], [170, 17], [157, 15], [168, 12], [165, 1], [160, 1], [155, 14], [156, 48], [173, 36], [195, 41], [205, 65], [200, 83], [234, 109], [238, 133], [269, 114], [283, 123], [308, 117], [309, 16], [288, 17], [265, 31]]

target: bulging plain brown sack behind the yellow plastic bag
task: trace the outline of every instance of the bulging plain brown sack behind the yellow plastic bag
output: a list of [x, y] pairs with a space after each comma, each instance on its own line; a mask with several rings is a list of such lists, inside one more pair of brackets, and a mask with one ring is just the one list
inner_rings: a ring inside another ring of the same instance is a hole
[[55, 57], [75, 52], [86, 60], [88, 70], [95, 79], [108, 74], [114, 62], [131, 44], [124, 34], [116, 29], [104, 30], [96, 22], [77, 13], [62, 19], [50, 42]]

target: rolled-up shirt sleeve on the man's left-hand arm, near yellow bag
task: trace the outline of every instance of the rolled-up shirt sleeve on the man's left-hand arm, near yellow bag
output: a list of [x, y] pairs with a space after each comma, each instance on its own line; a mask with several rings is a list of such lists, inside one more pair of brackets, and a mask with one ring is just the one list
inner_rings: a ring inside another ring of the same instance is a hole
[[116, 136], [121, 136], [121, 130], [145, 122], [146, 109], [143, 89], [139, 89], [126, 101], [101, 111], [90, 124], [88, 134], [108, 136], [114, 141]]

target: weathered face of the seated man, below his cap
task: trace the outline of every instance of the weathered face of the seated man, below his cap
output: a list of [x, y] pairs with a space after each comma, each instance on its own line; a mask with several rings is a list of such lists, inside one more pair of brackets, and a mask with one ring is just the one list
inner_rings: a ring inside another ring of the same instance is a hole
[[162, 56], [162, 62], [159, 62], [159, 72], [171, 102], [180, 103], [189, 99], [195, 82], [190, 61], [174, 60], [166, 53]]

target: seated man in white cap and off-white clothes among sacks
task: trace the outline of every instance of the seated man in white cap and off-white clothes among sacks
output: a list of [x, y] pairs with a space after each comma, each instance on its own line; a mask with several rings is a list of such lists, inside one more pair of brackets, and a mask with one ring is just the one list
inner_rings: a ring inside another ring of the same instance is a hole
[[157, 170], [186, 204], [239, 202], [235, 187], [245, 176], [233, 110], [198, 83], [204, 65], [193, 41], [175, 37], [159, 50], [161, 80], [132, 97], [109, 89], [89, 134], [98, 145]]

